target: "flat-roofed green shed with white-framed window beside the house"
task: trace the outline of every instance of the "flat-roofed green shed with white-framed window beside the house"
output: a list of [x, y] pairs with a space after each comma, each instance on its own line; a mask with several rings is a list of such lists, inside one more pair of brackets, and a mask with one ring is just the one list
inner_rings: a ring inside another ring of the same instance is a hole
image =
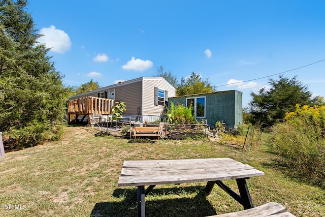
[[206, 119], [214, 127], [216, 121], [226, 123], [226, 128], [234, 128], [243, 122], [243, 93], [238, 90], [226, 90], [168, 98], [176, 105], [181, 103], [194, 105], [194, 114], [198, 120]]

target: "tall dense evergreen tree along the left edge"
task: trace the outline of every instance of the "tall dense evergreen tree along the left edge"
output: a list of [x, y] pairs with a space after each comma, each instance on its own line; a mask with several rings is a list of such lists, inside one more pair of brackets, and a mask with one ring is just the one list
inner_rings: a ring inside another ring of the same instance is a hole
[[70, 90], [37, 43], [41, 36], [26, 5], [0, 0], [0, 131], [12, 148], [57, 139]]

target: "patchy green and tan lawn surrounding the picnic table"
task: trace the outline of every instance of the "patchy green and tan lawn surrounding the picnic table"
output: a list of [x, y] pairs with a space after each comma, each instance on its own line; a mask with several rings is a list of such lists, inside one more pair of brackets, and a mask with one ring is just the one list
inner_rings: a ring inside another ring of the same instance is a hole
[[[59, 142], [6, 153], [0, 159], [0, 216], [136, 216], [137, 188], [117, 187], [124, 160], [220, 157], [265, 172], [247, 180], [255, 206], [273, 201], [297, 216], [325, 215], [325, 190], [291, 177], [266, 145], [242, 149], [196, 140], [129, 142], [93, 133], [67, 127]], [[235, 181], [225, 182], [236, 189]], [[146, 213], [206, 216], [242, 209], [217, 186], [205, 197], [204, 187], [203, 182], [158, 185], [146, 196]]]

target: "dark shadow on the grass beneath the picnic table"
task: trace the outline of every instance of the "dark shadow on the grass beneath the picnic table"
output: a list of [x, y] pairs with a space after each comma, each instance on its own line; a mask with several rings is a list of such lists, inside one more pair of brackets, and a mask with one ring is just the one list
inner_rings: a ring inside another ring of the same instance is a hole
[[[194, 194], [197, 193], [197, 194]], [[160, 199], [168, 195], [177, 195], [173, 199]], [[188, 197], [188, 195], [194, 195]], [[113, 192], [120, 202], [96, 203], [90, 217], [94, 216], [137, 216], [137, 188], [116, 189]], [[156, 199], [157, 198], [157, 199]], [[199, 187], [153, 189], [146, 196], [146, 215], [148, 216], [207, 216], [216, 212]]]

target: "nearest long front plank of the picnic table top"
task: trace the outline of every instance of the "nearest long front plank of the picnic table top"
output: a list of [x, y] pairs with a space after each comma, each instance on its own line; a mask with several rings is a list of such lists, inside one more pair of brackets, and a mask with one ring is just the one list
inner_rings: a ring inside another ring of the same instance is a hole
[[176, 184], [187, 182], [215, 181], [236, 178], [248, 178], [264, 175], [264, 172], [250, 169], [243, 171], [228, 171], [202, 174], [173, 174], [161, 176], [120, 176], [118, 187], [139, 186], [139, 185], [157, 185], [157, 184]]

